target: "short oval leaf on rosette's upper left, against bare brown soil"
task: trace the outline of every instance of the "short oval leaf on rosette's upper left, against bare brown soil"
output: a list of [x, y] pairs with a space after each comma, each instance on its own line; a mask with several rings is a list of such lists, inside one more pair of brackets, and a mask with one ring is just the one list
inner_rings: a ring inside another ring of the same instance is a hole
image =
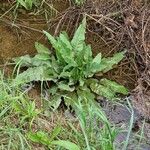
[[41, 43], [35, 42], [35, 48], [39, 54], [51, 54], [50, 50]]

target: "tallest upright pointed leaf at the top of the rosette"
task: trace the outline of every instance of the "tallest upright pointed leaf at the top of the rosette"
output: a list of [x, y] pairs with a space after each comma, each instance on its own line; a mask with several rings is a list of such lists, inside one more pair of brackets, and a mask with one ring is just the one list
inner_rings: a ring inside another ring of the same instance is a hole
[[71, 45], [75, 51], [83, 50], [86, 30], [86, 18], [83, 19], [82, 24], [76, 30]]

